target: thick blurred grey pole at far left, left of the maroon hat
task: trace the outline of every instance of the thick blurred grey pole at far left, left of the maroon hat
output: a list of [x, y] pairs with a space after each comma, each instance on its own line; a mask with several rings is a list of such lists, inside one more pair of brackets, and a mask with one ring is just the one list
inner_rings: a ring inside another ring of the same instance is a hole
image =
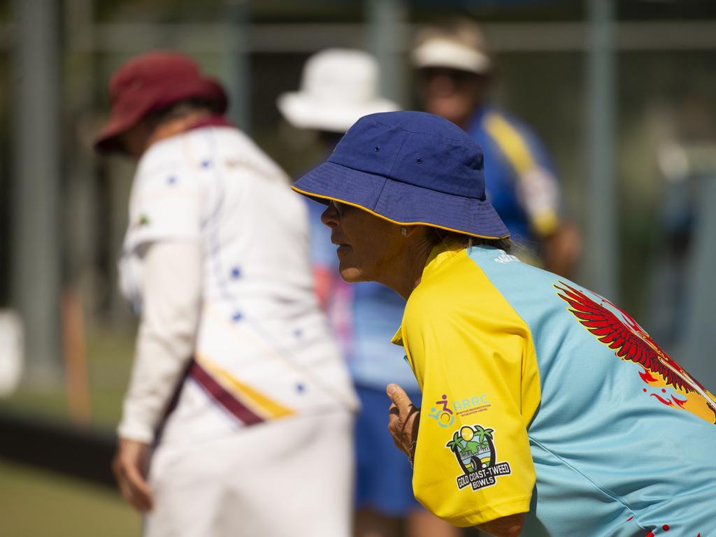
[[55, 0], [14, 0], [13, 285], [29, 381], [59, 382], [59, 13]]

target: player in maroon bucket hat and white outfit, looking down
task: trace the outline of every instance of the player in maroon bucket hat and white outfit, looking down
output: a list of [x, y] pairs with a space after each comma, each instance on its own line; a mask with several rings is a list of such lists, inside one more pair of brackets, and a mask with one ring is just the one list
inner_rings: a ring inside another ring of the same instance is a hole
[[95, 145], [138, 163], [122, 493], [150, 537], [348, 536], [356, 402], [314, 298], [304, 203], [190, 59], [132, 59], [110, 97]]

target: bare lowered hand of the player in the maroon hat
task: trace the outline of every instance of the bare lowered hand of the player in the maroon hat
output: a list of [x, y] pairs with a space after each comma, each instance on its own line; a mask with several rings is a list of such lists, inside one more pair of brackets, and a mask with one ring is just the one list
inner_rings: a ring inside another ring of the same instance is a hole
[[122, 495], [137, 511], [149, 511], [154, 505], [152, 490], [145, 480], [149, 453], [148, 444], [120, 438], [112, 460], [112, 472]]

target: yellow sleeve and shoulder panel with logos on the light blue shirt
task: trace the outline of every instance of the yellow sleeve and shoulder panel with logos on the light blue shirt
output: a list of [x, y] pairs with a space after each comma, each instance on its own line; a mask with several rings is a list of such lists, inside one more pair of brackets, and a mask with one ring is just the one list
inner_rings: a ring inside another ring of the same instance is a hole
[[436, 248], [401, 337], [422, 390], [417, 500], [455, 526], [529, 511], [540, 392], [528, 326], [464, 250]]

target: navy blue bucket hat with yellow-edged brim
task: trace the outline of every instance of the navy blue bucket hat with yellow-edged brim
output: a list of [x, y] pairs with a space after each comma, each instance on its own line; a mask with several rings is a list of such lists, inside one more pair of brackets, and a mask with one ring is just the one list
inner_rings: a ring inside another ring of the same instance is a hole
[[481, 238], [510, 236], [485, 198], [483, 150], [457, 125], [425, 112], [360, 118], [330, 158], [291, 188], [402, 226], [422, 224]]

